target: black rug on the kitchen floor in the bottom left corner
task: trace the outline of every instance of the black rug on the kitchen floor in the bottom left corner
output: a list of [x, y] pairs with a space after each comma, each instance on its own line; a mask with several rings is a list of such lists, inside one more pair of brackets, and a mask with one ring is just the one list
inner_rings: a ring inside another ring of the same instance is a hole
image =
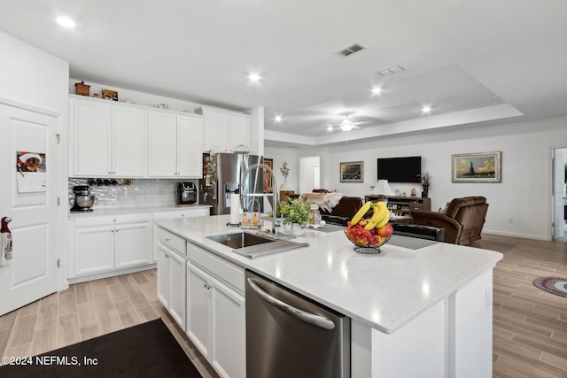
[[202, 377], [161, 319], [17, 361], [0, 377]]

